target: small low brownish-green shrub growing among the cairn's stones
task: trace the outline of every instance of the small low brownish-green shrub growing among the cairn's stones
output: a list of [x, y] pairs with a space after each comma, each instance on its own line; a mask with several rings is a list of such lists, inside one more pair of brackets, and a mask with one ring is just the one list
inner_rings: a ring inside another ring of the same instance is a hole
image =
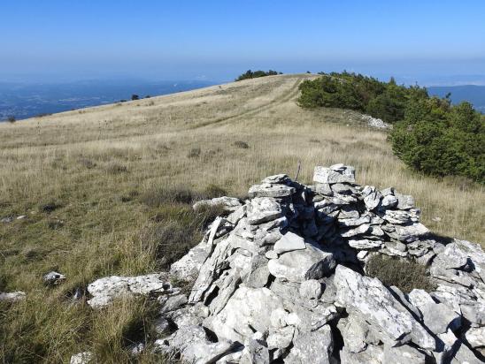
[[388, 286], [396, 285], [404, 293], [414, 288], [433, 291], [435, 286], [427, 276], [426, 267], [417, 262], [393, 259], [383, 254], [373, 255], [366, 264], [366, 274]]

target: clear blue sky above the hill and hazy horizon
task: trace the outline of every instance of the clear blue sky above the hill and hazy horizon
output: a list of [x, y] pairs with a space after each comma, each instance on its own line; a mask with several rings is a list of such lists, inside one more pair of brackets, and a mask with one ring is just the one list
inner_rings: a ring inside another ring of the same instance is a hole
[[485, 80], [485, 1], [2, 0], [0, 80]]

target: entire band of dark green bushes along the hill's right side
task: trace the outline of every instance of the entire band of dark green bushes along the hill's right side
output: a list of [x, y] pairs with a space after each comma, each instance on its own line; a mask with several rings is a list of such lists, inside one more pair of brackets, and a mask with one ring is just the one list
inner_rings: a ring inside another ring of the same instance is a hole
[[452, 106], [448, 98], [429, 97], [426, 88], [348, 72], [305, 80], [300, 91], [304, 108], [358, 110], [394, 124], [393, 151], [416, 171], [485, 183], [485, 117], [468, 102]]

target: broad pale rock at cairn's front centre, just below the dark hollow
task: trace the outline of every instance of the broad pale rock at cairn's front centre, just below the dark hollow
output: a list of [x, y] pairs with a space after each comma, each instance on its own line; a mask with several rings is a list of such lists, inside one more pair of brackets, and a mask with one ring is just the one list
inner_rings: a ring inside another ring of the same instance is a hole
[[281, 254], [278, 259], [268, 262], [269, 272], [274, 277], [285, 278], [290, 282], [303, 282], [307, 279], [325, 277], [335, 267], [335, 258], [318, 246], [305, 243], [304, 250], [294, 250]]

